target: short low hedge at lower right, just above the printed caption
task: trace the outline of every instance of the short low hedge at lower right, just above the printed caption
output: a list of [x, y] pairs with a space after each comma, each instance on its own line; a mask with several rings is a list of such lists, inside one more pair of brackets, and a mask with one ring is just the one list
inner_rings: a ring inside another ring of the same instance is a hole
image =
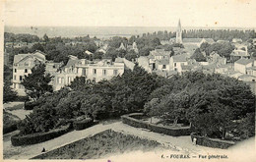
[[196, 135], [195, 133], [192, 133], [191, 134], [192, 142], [193, 142], [194, 138], [197, 139], [196, 144], [207, 146], [207, 147], [213, 147], [213, 148], [226, 149], [229, 146], [232, 146], [232, 145], [235, 144], [234, 141], [222, 140], [222, 139], [218, 139], [218, 138], [210, 138], [210, 137], [207, 137], [207, 136], [200, 136], [200, 135]]

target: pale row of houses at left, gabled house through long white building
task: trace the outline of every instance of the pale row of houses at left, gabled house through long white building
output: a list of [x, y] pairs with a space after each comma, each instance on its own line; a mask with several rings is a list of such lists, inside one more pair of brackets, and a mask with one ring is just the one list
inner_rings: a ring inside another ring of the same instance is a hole
[[114, 62], [111, 59], [89, 61], [78, 59], [70, 55], [68, 63], [54, 63], [45, 59], [45, 54], [35, 51], [28, 54], [18, 54], [14, 57], [13, 64], [13, 88], [18, 95], [26, 95], [25, 87], [21, 81], [32, 73], [32, 67], [38, 64], [45, 64], [45, 73], [53, 76], [50, 84], [53, 90], [70, 84], [76, 77], [85, 77], [86, 80], [102, 81], [110, 80], [115, 76], [121, 76], [125, 69], [133, 69], [135, 64], [125, 58], [117, 58]]

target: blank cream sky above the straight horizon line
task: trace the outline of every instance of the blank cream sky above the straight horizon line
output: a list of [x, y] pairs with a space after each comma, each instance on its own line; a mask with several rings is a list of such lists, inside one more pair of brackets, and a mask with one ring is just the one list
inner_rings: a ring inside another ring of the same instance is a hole
[[256, 27], [256, 0], [6, 0], [6, 26]]

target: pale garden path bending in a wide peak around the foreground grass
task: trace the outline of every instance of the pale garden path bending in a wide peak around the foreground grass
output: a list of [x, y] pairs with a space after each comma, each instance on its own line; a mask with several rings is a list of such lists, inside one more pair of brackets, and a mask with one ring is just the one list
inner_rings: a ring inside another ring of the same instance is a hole
[[[61, 135], [51, 140], [48, 140], [42, 143], [28, 145], [28, 146], [12, 146], [10, 134], [13, 134], [13, 135], [17, 134], [18, 132], [16, 131], [14, 133], [10, 133], [3, 136], [4, 137], [4, 142], [3, 142], [4, 158], [5, 159], [29, 159], [40, 154], [43, 147], [46, 149], [46, 151], [49, 151], [49, 150], [61, 147], [63, 145], [69, 144], [71, 142], [83, 139], [85, 137], [96, 135], [108, 129], [112, 129], [113, 131], [121, 132], [123, 134], [137, 135], [140, 137], [157, 140], [166, 146], [175, 148], [180, 151], [176, 153], [179, 153], [179, 154], [186, 153], [186, 154], [190, 154], [191, 156], [198, 155], [198, 154], [207, 155], [209, 154], [209, 152], [215, 152], [215, 154], [220, 154], [220, 155], [229, 154], [229, 153], [233, 153], [234, 152], [233, 150], [236, 150], [232, 147], [230, 149], [224, 150], [224, 149], [193, 145], [189, 135], [177, 136], [177, 137], [170, 136], [170, 135], [161, 135], [161, 134], [150, 132], [145, 129], [133, 128], [121, 122], [114, 122], [110, 124], [98, 124], [86, 130], [73, 131], [66, 135]], [[250, 143], [253, 143], [251, 142], [251, 139], [250, 139]], [[244, 144], [241, 144], [241, 145], [243, 147], [240, 147], [240, 148], [245, 149]]]

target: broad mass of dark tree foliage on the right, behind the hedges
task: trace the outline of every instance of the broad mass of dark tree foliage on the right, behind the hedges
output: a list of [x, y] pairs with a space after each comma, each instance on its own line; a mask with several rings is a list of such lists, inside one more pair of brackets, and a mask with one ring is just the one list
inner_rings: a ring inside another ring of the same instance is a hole
[[[244, 121], [247, 113], [255, 112], [255, 95], [242, 81], [200, 72], [176, 75], [169, 81], [151, 94], [150, 98], [158, 98], [159, 102], [150, 113], [165, 120], [188, 120], [200, 135], [225, 138], [238, 127], [234, 121]], [[252, 130], [253, 120], [245, 121], [247, 127], [239, 133]]]

